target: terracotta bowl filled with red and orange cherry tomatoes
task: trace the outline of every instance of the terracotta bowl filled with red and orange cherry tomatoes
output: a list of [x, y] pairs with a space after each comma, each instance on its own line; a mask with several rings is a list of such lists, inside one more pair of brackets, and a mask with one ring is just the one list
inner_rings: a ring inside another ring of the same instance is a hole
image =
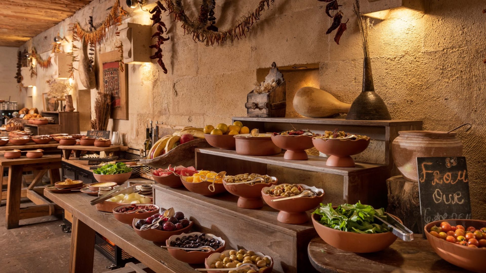
[[444, 260], [486, 273], [486, 221], [434, 221], [424, 227], [424, 232], [435, 253]]

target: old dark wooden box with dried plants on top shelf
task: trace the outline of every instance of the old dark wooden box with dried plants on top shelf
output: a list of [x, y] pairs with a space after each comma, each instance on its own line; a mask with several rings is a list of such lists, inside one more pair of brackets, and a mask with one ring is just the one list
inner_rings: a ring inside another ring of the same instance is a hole
[[246, 96], [246, 115], [259, 118], [283, 118], [285, 117], [286, 93], [285, 80], [282, 73], [278, 71], [277, 65], [272, 63], [272, 68], [265, 77], [265, 82], [275, 81], [277, 86], [265, 93], [257, 93], [252, 90]]

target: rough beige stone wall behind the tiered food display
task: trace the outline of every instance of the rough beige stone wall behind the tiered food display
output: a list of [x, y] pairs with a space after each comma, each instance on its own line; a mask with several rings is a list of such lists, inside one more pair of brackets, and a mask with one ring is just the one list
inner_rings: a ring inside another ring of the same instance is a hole
[[[52, 36], [61, 27], [67, 34], [69, 23], [85, 22], [89, 15], [100, 22], [111, 2], [93, 1], [23, 47], [35, 44], [40, 52], [50, 50]], [[217, 26], [223, 29], [254, 9], [258, 0], [216, 2]], [[341, 45], [334, 43], [333, 34], [324, 34], [331, 19], [324, 13], [325, 3], [317, 0], [276, 0], [247, 38], [219, 47], [194, 43], [191, 36], [183, 35], [180, 23], [164, 17], [171, 36], [164, 45], [169, 74], [155, 64], [129, 65], [130, 119], [110, 122], [110, 129], [120, 131], [125, 143], [138, 149], [145, 136], [143, 124], [150, 119], [193, 126], [228, 122], [245, 114], [243, 103], [257, 68], [267, 68], [273, 61], [280, 66], [319, 63], [319, 83], [314, 85], [352, 102], [361, 89], [363, 57], [353, 2], [341, 1], [344, 18], [350, 18]], [[398, 12], [388, 20], [372, 21], [369, 47], [375, 87], [393, 119], [420, 119], [427, 130], [447, 130], [464, 122], [474, 125], [459, 137], [469, 163], [473, 216], [485, 219], [486, 145], [477, 141], [486, 133], [484, 0], [463, 5], [456, 0], [426, 2], [424, 15]], [[150, 24], [148, 13], [130, 12], [125, 21]], [[196, 12], [188, 15], [195, 18]], [[111, 29], [97, 51], [114, 50], [114, 37]]]

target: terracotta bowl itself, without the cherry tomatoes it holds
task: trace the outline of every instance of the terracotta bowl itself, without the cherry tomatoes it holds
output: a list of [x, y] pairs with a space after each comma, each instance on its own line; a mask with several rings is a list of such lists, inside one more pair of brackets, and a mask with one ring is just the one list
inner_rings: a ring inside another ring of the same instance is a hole
[[449, 222], [451, 225], [473, 226], [476, 229], [486, 227], [486, 221], [469, 219], [439, 220], [425, 225], [423, 231], [435, 253], [444, 260], [470, 271], [486, 272], [486, 249], [458, 245], [436, 238], [429, 233], [431, 227], [439, 225], [443, 221]]

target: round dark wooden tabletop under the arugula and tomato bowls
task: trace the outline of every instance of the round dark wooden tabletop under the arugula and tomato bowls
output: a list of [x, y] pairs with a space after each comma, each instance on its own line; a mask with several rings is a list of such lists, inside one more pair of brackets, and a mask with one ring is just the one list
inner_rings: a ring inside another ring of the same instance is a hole
[[343, 251], [317, 236], [309, 243], [307, 252], [312, 266], [323, 273], [468, 272], [435, 254], [421, 234], [415, 234], [411, 242], [397, 239], [387, 249], [375, 253]]

